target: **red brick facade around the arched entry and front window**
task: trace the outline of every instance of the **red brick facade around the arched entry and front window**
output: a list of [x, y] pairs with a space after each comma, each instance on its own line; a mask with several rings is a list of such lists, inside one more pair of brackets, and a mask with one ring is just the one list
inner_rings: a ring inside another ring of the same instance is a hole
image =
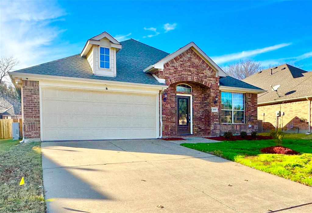
[[[164, 93], [167, 100], [162, 100], [163, 136], [177, 135], [176, 127], [176, 85], [186, 83], [192, 86], [193, 97], [193, 135], [209, 136], [232, 131], [235, 134], [241, 131], [255, 131], [257, 127], [257, 95], [245, 94], [245, 124], [221, 124], [219, 77], [216, 71], [209, 66], [193, 49], [188, 49], [177, 57], [164, 64], [163, 71], [155, 73], [158, 78], [166, 80], [169, 86]], [[178, 92], [181, 93], [181, 92]], [[218, 102], [215, 104], [215, 98]], [[218, 112], [211, 108], [217, 107]], [[251, 124], [251, 128], [248, 127]]]

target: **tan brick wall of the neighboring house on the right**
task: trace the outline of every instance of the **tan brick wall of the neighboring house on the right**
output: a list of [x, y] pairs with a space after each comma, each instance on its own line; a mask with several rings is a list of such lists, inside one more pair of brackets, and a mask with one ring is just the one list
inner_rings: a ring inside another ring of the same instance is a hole
[[[308, 107], [309, 107], [308, 100], [259, 106], [258, 107], [258, 120], [262, 120], [263, 130], [269, 131], [270, 129], [276, 127], [275, 112], [281, 111], [281, 112], [284, 112], [285, 115], [278, 118], [279, 119], [278, 126], [281, 126], [285, 130], [287, 130], [287, 126], [289, 129], [290, 124], [292, 124], [294, 128], [290, 130], [291, 132], [297, 132], [298, 127], [299, 127], [299, 132], [307, 132], [309, 128]], [[265, 114], [264, 116], [263, 116], [263, 113]]]

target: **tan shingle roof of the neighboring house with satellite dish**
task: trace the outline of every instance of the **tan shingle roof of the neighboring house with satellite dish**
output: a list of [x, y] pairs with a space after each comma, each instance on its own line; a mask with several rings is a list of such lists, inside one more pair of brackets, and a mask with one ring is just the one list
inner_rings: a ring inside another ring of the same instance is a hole
[[[312, 97], [312, 72], [307, 72], [289, 64], [262, 70], [243, 81], [268, 90], [265, 93], [258, 94], [258, 104]], [[280, 97], [276, 95], [275, 91], [271, 90], [270, 86], [278, 84], [280, 87], [277, 92]]]

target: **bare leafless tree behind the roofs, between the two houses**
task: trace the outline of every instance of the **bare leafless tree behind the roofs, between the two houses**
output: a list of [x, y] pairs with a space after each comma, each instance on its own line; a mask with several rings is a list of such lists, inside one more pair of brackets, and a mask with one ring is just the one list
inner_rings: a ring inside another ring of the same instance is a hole
[[224, 68], [224, 71], [229, 75], [238, 80], [242, 80], [256, 72], [263, 70], [260, 62], [252, 60], [241, 60], [235, 64], [231, 64]]

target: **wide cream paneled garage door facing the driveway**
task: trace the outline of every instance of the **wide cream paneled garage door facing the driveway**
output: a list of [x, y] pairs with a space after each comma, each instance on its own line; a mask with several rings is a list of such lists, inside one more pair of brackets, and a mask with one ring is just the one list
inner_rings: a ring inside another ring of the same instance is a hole
[[156, 95], [42, 87], [42, 140], [156, 138], [156, 100]]

